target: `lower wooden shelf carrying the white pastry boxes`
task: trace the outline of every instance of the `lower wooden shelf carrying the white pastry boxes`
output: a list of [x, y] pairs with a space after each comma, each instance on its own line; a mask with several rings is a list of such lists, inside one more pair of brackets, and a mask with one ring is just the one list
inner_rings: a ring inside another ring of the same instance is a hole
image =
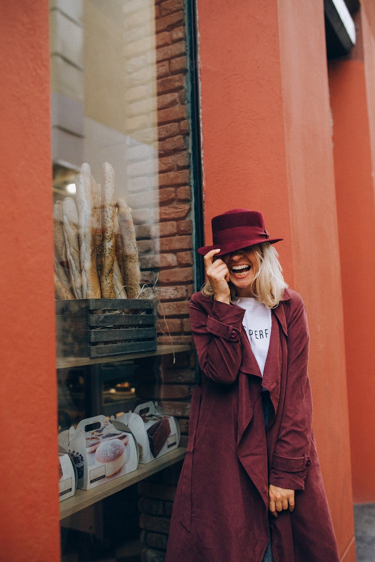
[[73, 497], [60, 502], [60, 519], [65, 519], [69, 515], [73, 515], [85, 509], [85, 507], [96, 504], [96, 502], [116, 492], [120, 492], [120, 490], [124, 490], [124, 488], [132, 486], [143, 480], [143, 478], [147, 478], [170, 465], [178, 463], [178, 461], [183, 460], [185, 452], [186, 448], [178, 447], [174, 451], [161, 456], [159, 459], [155, 459], [148, 464], [139, 464], [137, 470], [115, 478], [105, 484], [100, 484], [100, 486], [92, 488], [92, 490], [76, 490]]

